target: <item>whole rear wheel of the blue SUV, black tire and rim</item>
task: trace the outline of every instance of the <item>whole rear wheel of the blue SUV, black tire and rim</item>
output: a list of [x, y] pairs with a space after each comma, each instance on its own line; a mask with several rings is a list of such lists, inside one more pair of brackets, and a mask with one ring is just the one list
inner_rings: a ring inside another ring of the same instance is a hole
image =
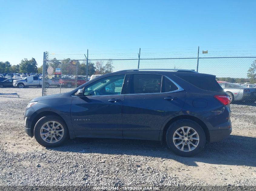
[[[184, 129], [184, 131], [182, 131], [182, 128]], [[190, 130], [187, 135], [187, 131], [189, 128]], [[183, 135], [183, 136], [179, 136], [176, 132], [180, 133], [180, 135]], [[181, 132], [184, 132], [184, 133], [181, 133]], [[194, 133], [197, 133], [197, 134], [192, 135]], [[191, 135], [192, 137], [189, 137]], [[191, 157], [198, 154], [204, 148], [206, 138], [205, 138], [204, 130], [198, 123], [189, 119], [181, 119], [181, 120], [175, 121], [168, 127], [166, 132], [166, 142], [168, 147], [175, 154], [182, 157]], [[175, 146], [175, 144], [177, 146]]]

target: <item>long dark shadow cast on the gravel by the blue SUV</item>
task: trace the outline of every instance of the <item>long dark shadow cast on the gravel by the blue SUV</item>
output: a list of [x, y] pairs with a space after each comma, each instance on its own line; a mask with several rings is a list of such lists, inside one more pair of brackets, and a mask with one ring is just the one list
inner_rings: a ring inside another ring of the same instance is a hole
[[180, 157], [171, 152], [166, 145], [158, 141], [106, 138], [76, 138], [64, 146], [47, 148], [49, 150], [75, 152], [138, 155], [162, 159], [172, 159], [189, 166], [198, 166], [197, 162], [256, 167], [256, 138], [229, 135], [221, 142], [207, 143], [204, 150], [190, 158]]

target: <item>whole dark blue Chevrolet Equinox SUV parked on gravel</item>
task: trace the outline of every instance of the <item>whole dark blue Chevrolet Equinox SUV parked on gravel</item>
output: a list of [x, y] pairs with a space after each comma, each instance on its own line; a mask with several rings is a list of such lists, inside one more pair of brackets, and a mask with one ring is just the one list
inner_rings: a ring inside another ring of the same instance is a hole
[[31, 100], [24, 114], [25, 132], [45, 147], [76, 137], [158, 140], [189, 157], [206, 141], [217, 142], [231, 133], [229, 103], [214, 75], [122, 70], [67, 93]]

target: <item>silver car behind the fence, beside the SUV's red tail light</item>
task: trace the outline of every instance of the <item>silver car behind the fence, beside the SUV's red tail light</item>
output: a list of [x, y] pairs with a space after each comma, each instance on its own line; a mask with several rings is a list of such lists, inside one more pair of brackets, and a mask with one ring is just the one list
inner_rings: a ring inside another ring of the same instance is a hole
[[227, 81], [218, 81], [220, 86], [227, 92], [230, 102], [243, 100], [256, 100], [256, 88], [245, 88], [242, 85]]

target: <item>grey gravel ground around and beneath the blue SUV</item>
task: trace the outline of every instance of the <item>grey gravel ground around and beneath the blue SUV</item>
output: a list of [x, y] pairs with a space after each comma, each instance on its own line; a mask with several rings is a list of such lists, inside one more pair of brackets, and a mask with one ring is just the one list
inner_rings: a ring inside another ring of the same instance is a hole
[[231, 105], [233, 132], [192, 158], [155, 141], [76, 138], [43, 148], [23, 130], [40, 88], [0, 89], [0, 186], [256, 186], [256, 106]]

